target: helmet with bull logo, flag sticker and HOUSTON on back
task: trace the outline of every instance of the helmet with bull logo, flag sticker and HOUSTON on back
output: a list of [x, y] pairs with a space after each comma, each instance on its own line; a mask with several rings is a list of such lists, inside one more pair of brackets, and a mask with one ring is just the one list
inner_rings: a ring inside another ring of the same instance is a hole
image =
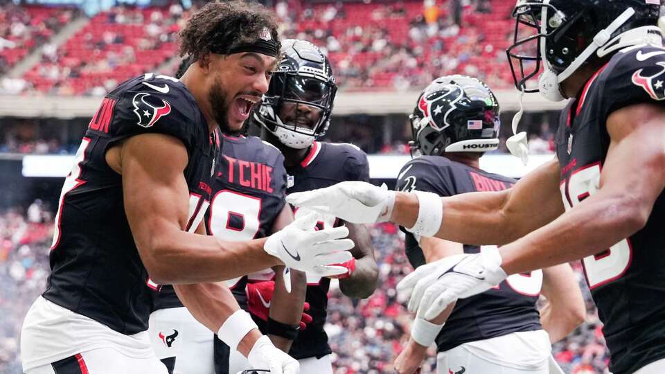
[[467, 75], [436, 78], [418, 96], [409, 116], [411, 156], [487, 152], [499, 147], [499, 103], [481, 80]]

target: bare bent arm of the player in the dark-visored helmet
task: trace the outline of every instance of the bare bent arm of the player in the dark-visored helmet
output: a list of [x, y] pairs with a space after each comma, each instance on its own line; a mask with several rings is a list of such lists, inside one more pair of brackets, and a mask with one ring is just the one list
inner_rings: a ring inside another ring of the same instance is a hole
[[364, 224], [346, 224], [348, 237], [355, 242], [351, 250], [354, 269], [348, 278], [339, 279], [339, 289], [353, 299], [366, 299], [374, 293], [379, 281], [379, 269], [374, 258], [374, 246]]

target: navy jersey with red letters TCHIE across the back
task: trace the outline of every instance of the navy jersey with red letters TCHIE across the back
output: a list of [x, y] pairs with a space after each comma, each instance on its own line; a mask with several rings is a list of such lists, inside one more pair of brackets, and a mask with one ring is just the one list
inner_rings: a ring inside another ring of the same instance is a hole
[[[265, 238], [286, 204], [284, 157], [273, 145], [256, 136], [221, 136], [222, 152], [211, 181], [206, 231], [222, 240]], [[247, 310], [247, 276], [227, 281], [240, 308]], [[170, 285], [155, 294], [154, 309], [179, 308]]]

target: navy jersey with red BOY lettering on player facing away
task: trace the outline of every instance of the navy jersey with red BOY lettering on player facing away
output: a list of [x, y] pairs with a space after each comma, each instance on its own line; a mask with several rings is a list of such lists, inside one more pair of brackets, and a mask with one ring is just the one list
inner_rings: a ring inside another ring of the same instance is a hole
[[[413, 190], [453, 196], [478, 191], [500, 191], [515, 184], [514, 179], [491, 174], [450, 161], [441, 156], [412, 159], [400, 171], [398, 190]], [[425, 264], [423, 250], [414, 235], [406, 233], [405, 250], [413, 267]], [[484, 247], [484, 246], [483, 246]], [[481, 247], [464, 244], [464, 253], [479, 253]], [[436, 348], [444, 352], [468, 343], [510, 334], [540, 330], [540, 314], [535, 308], [542, 286], [542, 271], [515, 274], [482, 294], [459, 299], [445, 326], [436, 337]]]

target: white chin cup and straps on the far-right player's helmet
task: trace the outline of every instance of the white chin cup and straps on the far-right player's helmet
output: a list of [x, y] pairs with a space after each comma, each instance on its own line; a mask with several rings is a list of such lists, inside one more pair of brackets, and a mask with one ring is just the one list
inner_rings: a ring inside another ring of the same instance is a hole
[[[577, 71], [577, 69], [579, 69], [579, 67], [582, 66], [582, 64], [588, 60], [594, 52], [605, 46], [605, 44], [608, 44], [608, 42], [610, 42], [610, 37], [612, 37], [612, 33], [623, 26], [623, 24], [625, 24], [633, 15], [635, 15], [635, 10], [633, 8], [624, 10], [623, 13], [617, 17], [617, 19], [614, 19], [614, 21], [608, 25], [608, 27], [598, 31], [598, 33], [594, 36], [593, 42], [589, 44], [587, 48], [585, 48], [584, 51], [582, 51], [582, 53], [580, 53], [580, 55], [578, 55], [575, 60], [573, 60], [573, 62], [571, 62], [571, 64], [559, 74], [553, 71], [549, 65], [549, 62], [547, 61], [547, 58], [544, 57], [547, 56], [547, 42], [543, 40], [542, 44], [540, 45], [540, 59], [542, 60], [544, 71], [540, 75], [540, 78], [538, 78], [538, 89], [540, 94], [542, 94], [544, 98], [547, 98], [547, 100], [564, 100], [565, 96], [562, 94], [560, 83], [572, 75], [572, 73]], [[547, 34], [547, 10], [542, 12], [541, 33], [543, 33], [543, 35]], [[622, 33], [621, 35], [624, 34], [626, 33]], [[621, 35], [618, 35], [617, 37], [621, 37]], [[614, 40], [616, 39], [617, 38]], [[627, 44], [624, 44], [624, 46], [627, 46]], [[612, 46], [612, 48], [608, 48], [608, 51], [605, 54], [615, 50], [616, 49], [614, 46]], [[598, 51], [598, 56], [602, 57], [605, 55], [601, 55], [600, 52], [601, 51]]]

